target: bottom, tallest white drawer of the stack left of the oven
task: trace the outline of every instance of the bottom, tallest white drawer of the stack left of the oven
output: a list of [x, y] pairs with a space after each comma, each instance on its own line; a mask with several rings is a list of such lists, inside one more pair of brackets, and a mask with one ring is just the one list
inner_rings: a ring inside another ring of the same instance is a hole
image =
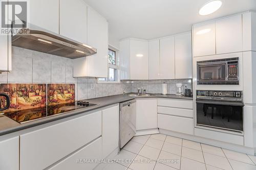
[[158, 114], [158, 128], [193, 135], [193, 118]]

